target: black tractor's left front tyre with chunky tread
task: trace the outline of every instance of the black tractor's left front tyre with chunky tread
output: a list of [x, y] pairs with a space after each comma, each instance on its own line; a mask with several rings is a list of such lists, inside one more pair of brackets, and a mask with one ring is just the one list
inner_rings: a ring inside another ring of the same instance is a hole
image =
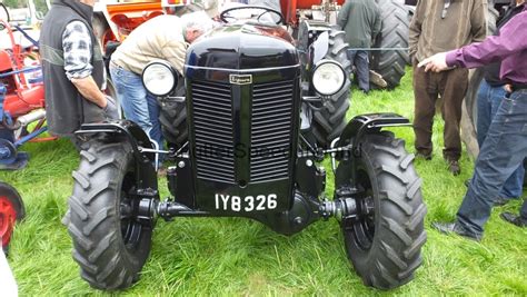
[[139, 278], [150, 254], [151, 226], [141, 225], [136, 162], [127, 142], [92, 141], [80, 152], [66, 220], [81, 277], [98, 289], [122, 289]]

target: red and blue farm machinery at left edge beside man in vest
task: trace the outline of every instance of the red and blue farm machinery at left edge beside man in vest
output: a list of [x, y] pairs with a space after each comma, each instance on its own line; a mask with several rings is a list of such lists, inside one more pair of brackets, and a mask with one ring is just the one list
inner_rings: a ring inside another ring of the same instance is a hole
[[[0, 12], [0, 36], [8, 40], [0, 48], [0, 169], [20, 169], [29, 157], [18, 147], [56, 138], [38, 138], [48, 130], [38, 41], [19, 24], [9, 22], [3, 3]], [[22, 37], [29, 46], [20, 41]]]

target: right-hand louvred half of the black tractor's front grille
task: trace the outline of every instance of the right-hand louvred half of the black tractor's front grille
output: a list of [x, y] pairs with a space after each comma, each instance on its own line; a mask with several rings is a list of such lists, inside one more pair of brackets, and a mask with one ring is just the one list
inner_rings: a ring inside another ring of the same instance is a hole
[[295, 81], [255, 85], [252, 89], [251, 165], [252, 182], [289, 176], [292, 143]]

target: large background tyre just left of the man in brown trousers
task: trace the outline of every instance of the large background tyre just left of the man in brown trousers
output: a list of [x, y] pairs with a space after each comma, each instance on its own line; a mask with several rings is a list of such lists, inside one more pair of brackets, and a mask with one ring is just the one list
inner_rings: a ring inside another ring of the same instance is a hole
[[[400, 83], [405, 76], [405, 67], [410, 62], [408, 53], [408, 9], [402, 0], [376, 0], [382, 20], [380, 33], [377, 36], [371, 52], [370, 69], [382, 76], [392, 89]], [[395, 50], [401, 49], [401, 50]], [[370, 88], [378, 86], [371, 83]]]

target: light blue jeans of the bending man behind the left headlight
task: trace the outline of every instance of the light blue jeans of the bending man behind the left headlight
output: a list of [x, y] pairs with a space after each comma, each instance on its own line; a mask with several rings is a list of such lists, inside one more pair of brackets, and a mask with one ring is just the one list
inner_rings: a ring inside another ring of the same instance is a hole
[[147, 92], [142, 86], [141, 76], [115, 63], [110, 63], [110, 75], [125, 117], [139, 125], [148, 137], [156, 141], [159, 149], [162, 149], [163, 138], [159, 122], [161, 108], [156, 97]]

